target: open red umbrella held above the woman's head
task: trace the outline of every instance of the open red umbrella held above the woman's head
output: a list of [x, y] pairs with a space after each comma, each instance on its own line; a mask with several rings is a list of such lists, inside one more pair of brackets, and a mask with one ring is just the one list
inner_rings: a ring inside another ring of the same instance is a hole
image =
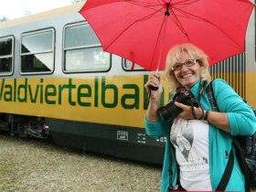
[[105, 51], [162, 70], [176, 44], [202, 48], [210, 65], [242, 53], [253, 7], [249, 0], [87, 0], [80, 14]]

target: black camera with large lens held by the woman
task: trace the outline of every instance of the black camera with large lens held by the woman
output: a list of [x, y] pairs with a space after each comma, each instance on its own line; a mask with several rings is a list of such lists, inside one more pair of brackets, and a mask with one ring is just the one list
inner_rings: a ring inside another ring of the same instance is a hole
[[178, 87], [173, 101], [170, 101], [168, 104], [158, 109], [159, 115], [163, 116], [167, 121], [172, 121], [180, 112], [182, 112], [181, 108], [176, 107], [174, 103], [175, 101], [192, 107], [199, 106], [197, 99], [191, 91], [187, 90], [185, 87]]

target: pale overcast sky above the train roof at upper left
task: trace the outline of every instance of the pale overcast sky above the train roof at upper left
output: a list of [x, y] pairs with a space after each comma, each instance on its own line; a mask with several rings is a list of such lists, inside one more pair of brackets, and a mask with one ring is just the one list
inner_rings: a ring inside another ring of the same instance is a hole
[[71, 5], [71, 0], [0, 0], [0, 19], [4, 16], [14, 19], [26, 16], [26, 12], [37, 14], [65, 5]]

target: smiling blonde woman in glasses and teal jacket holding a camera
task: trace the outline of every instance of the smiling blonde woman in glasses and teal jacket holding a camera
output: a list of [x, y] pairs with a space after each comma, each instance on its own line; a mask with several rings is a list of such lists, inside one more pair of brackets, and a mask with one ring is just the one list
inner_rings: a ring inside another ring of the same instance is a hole
[[[170, 91], [184, 86], [200, 98], [203, 110], [195, 107], [193, 114], [191, 106], [175, 101], [176, 107], [183, 111], [173, 121], [166, 121], [158, 113], [163, 91], [159, 74], [152, 73], [145, 83], [147, 91], [150, 86], [158, 88], [150, 91], [144, 120], [146, 133], [157, 138], [166, 136], [161, 191], [176, 187], [177, 183], [185, 190], [216, 190], [230, 150], [235, 154], [230, 134], [255, 133], [254, 113], [229, 84], [220, 79], [212, 84], [220, 112], [212, 112], [202, 86], [203, 81], [210, 81], [208, 57], [191, 44], [179, 45], [169, 51], [165, 78]], [[172, 176], [168, 172], [169, 165], [172, 166]], [[245, 190], [244, 176], [236, 155], [226, 190]]]

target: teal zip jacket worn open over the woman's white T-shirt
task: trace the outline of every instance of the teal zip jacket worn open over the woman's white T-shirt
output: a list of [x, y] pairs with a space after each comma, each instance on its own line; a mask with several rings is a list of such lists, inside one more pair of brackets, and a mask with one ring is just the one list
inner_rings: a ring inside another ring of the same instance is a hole
[[[251, 107], [247, 105], [240, 96], [229, 86], [224, 80], [214, 80], [213, 90], [216, 101], [219, 106], [220, 112], [227, 112], [229, 118], [229, 124], [231, 129], [231, 135], [251, 135], [256, 131], [256, 118], [251, 110]], [[201, 89], [201, 80], [191, 88], [193, 94], [197, 97]], [[200, 99], [200, 103], [205, 110], [212, 111], [206, 91], [203, 91]], [[156, 138], [166, 137], [165, 144], [165, 159], [163, 164], [161, 191], [167, 191], [169, 186], [169, 173], [168, 168], [170, 165], [170, 159], [172, 159], [172, 171], [174, 175], [171, 178], [173, 186], [176, 186], [178, 166], [175, 161], [175, 148], [170, 143], [170, 129], [172, 123], [166, 122], [163, 117], [161, 120], [155, 123], [150, 123], [144, 119], [145, 131], [147, 135]], [[216, 190], [219, 185], [219, 181], [225, 167], [228, 163], [229, 156], [226, 154], [230, 152], [232, 147], [235, 155], [234, 167], [229, 179], [229, 184], [226, 190], [229, 191], [244, 191], [244, 176], [241, 173], [240, 165], [236, 157], [235, 149], [231, 145], [231, 138], [229, 133], [221, 131], [214, 125], [209, 124], [208, 132], [208, 160], [209, 160], [209, 173], [212, 190]], [[172, 150], [172, 153], [170, 153]]]

